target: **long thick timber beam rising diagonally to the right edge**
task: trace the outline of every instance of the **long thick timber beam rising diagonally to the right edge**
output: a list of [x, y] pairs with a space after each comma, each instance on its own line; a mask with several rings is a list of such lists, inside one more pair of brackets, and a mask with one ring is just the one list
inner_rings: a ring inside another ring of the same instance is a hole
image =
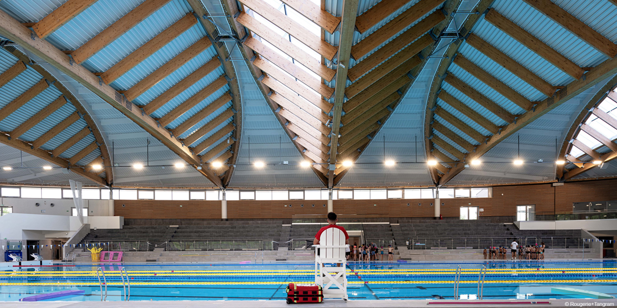
[[[528, 125], [529, 123], [532, 123], [532, 121], [536, 120], [540, 116], [545, 115], [550, 110], [553, 110], [553, 108], [560, 106], [562, 103], [568, 101], [569, 99], [572, 99], [574, 96], [580, 94], [582, 91], [585, 91], [589, 89], [590, 87], [595, 86], [595, 84], [600, 83], [600, 81], [603, 81], [611, 76], [614, 76], [616, 73], [617, 73], [617, 59], [615, 58], [605, 60], [604, 62], [598, 64], [596, 67], [591, 68], [584, 75], [585, 78], [572, 81], [571, 83], [566, 85], [563, 89], [558, 90], [557, 93], [555, 93], [555, 97], [549, 97], [548, 99], [542, 100], [542, 102], [538, 102], [534, 110], [527, 111], [523, 115], [519, 116], [516, 119], [516, 123], [508, 124], [500, 131], [500, 134], [495, 134], [489, 137], [486, 140], [486, 142], [483, 142], [482, 144], [478, 145], [478, 147], [476, 148], [476, 152], [470, 153], [470, 155], [468, 155], [468, 159], [473, 160], [475, 158], [481, 157], [486, 152], [491, 150], [491, 148], [495, 147], [495, 145], [499, 144], [499, 142], [511, 136], [519, 129], [524, 128], [526, 125]], [[614, 86], [614, 84], [611, 84], [610, 86]], [[605, 89], [605, 91], [608, 91], [608, 89]], [[594, 108], [592, 112], [596, 114], [596, 112], [598, 112], [597, 110], [598, 108]], [[602, 111], [600, 111], [600, 114], [601, 113]], [[615, 126], [617, 127], [617, 121], [615, 122], [616, 122]], [[602, 155], [600, 156], [600, 159], [608, 158], [608, 157], [610, 157], [610, 155], [608, 156]], [[587, 166], [585, 166], [584, 168], [587, 168]], [[447, 176], [444, 176], [441, 178], [439, 183], [442, 185], [447, 183], [450, 179], [452, 179], [458, 173], [463, 171], [463, 169], [465, 169], [464, 166], [458, 166], [456, 168], [453, 168], [453, 170], [450, 171], [449, 174], [447, 174]], [[576, 173], [579, 174], [579, 172], [581, 172], [579, 171], [580, 169], [582, 168], [576, 169]], [[569, 174], [568, 179], [571, 179], [573, 177], [572, 174], [574, 173], [571, 173], [571, 172], [573, 171], [568, 171], [566, 174], [566, 175]]]

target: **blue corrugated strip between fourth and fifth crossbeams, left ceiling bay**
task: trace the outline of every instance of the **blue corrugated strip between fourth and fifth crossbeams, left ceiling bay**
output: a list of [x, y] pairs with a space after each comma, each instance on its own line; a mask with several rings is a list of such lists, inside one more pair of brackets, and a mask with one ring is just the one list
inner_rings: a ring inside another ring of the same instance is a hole
[[[197, 68], [204, 65], [206, 62], [210, 61], [212, 57], [215, 55], [212, 47], [206, 49], [201, 54], [197, 55], [193, 59], [186, 62], [182, 65], [178, 70], [171, 73], [169, 76], [165, 77], [163, 80], [159, 81], [159, 83], [155, 84], [148, 91], [144, 92], [144, 94], [139, 95], [133, 102], [139, 105], [145, 105], [151, 100], [155, 99], [155, 97], [159, 96], [161, 93], [165, 92], [167, 89], [181, 81], [186, 76], [191, 75], [193, 71], [197, 70]], [[128, 76], [125, 75], [125, 76]]]

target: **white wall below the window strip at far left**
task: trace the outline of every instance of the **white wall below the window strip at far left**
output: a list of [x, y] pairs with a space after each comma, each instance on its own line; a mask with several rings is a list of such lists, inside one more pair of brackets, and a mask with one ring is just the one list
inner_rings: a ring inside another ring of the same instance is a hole
[[[39, 203], [39, 206], [36, 206]], [[54, 206], [51, 206], [51, 203]], [[0, 204], [12, 206], [13, 213], [70, 216], [72, 199], [0, 198]], [[83, 200], [88, 216], [114, 216], [114, 200]], [[43, 213], [44, 211], [44, 213]]]

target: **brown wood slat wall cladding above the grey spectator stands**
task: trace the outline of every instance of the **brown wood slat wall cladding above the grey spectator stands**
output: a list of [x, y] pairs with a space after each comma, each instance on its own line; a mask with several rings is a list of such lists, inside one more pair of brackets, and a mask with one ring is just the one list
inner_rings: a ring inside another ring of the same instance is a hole
[[[551, 184], [496, 186], [492, 198], [442, 199], [444, 217], [458, 217], [460, 206], [479, 206], [481, 216], [514, 216], [516, 205], [536, 205], [537, 214], [563, 213], [579, 201], [617, 200], [617, 179]], [[409, 206], [407, 206], [409, 203]], [[421, 203], [418, 206], [418, 203]], [[334, 200], [337, 214], [358, 217], [433, 217], [432, 199]], [[229, 219], [291, 218], [324, 214], [326, 200], [227, 201]], [[122, 205], [125, 205], [124, 207]], [[289, 206], [291, 205], [291, 207]], [[301, 206], [304, 205], [304, 206]], [[313, 205], [315, 205], [313, 207]], [[220, 201], [115, 200], [116, 216], [126, 219], [220, 219]]]

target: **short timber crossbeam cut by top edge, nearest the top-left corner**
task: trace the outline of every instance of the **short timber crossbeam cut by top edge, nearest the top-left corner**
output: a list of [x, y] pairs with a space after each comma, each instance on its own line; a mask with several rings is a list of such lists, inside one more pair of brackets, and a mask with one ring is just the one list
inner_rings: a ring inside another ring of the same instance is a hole
[[70, 22], [70, 20], [85, 9], [88, 9], [88, 7], [93, 5], [96, 1], [98, 0], [68, 0], [32, 25], [32, 30], [35, 31], [36, 36], [40, 39], [44, 39], [48, 37], [49, 34], [54, 33], [54, 31], [65, 25], [65, 23]]

